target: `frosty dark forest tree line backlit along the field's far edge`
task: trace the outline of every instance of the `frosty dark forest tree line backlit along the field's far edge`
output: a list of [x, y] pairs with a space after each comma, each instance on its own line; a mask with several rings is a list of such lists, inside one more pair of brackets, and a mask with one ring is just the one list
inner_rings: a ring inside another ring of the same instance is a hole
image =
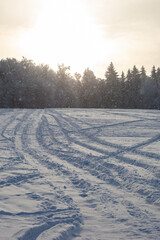
[[110, 63], [104, 79], [86, 69], [72, 76], [23, 57], [0, 61], [0, 108], [139, 108], [160, 109], [160, 68], [150, 76], [136, 66], [119, 76]]

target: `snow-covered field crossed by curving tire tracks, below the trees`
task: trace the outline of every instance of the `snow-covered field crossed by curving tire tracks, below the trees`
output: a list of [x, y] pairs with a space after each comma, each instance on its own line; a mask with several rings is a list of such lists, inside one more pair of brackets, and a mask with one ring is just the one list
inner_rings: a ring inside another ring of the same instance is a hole
[[0, 109], [0, 239], [160, 239], [160, 111]]

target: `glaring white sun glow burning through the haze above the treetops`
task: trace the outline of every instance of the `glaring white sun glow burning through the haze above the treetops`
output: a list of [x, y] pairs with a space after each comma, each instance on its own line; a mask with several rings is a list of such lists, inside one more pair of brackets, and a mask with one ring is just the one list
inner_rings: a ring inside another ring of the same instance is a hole
[[80, 0], [40, 0], [41, 8], [36, 23], [20, 37], [20, 48], [25, 57], [38, 63], [71, 66], [82, 72], [102, 61], [113, 50], [111, 42], [103, 38]]

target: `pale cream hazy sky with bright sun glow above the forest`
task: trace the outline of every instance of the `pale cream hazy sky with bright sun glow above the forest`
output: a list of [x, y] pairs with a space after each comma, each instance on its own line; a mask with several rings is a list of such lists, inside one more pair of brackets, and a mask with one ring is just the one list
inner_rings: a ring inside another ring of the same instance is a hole
[[160, 67], [160, 0], [0, 0], [0, 59], [89, 67], [103, 77]]

